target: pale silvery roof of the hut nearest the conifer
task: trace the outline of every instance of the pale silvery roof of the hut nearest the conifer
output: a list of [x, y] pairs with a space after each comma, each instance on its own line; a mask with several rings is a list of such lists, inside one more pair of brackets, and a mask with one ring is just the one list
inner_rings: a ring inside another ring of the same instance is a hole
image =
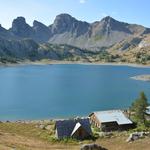
[[101, 123], [117, 122], [118, 125], [132, 124], [132, 121], [121, 110], [98, 111], [94, 112], [94, 114]]

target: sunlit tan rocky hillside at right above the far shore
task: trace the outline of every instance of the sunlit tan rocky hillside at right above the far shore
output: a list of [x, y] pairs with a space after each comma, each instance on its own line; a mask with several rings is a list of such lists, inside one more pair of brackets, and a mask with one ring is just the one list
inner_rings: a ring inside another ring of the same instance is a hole
[[127, 38], [108, 49], [122, 62], [150, 64], [150, 34]]

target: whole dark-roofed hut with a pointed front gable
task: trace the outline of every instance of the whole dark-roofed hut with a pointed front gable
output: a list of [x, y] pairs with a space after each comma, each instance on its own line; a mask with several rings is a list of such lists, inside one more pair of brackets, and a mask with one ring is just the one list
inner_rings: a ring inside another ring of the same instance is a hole
[[92, 130], [89, 118], [76, 118], [68, 120], [58, 120], [55, 124], [56, 137], [75, 138], [83, 140], [92, 136]]

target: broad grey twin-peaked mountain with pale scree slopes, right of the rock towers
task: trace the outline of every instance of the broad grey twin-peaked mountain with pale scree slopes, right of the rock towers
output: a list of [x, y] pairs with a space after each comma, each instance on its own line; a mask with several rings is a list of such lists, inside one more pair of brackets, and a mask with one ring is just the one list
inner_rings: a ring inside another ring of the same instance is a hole
[[50, 30], [52, 32], [50, 43], [101, 50], [127, 37], [141, 35], [149, 29], [140, 25], [119, 22], [109, 16], [90, 24], [78, 21], [68, 14], [61, 14], [56, 17]]

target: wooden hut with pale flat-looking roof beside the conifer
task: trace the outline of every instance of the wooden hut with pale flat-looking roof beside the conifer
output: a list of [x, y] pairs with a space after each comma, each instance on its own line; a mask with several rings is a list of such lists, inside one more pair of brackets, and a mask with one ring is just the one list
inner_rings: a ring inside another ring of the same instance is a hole
[[126, 130], [133, 123], [121, 110], [98, 111], [90, 114], [91, 123], [102, 131]]

